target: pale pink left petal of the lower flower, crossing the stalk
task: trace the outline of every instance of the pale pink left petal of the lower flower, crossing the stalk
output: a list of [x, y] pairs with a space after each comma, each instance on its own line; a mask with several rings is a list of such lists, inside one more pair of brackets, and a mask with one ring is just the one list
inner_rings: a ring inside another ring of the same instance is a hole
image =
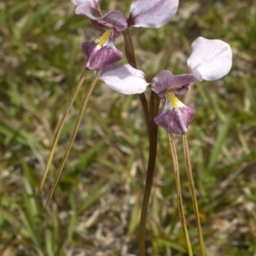
[[145, 92], [148, 84], [147, 76], [131, 65], [114, 64], [104, 69], [99, 78], [116, 92], [135, 94]]

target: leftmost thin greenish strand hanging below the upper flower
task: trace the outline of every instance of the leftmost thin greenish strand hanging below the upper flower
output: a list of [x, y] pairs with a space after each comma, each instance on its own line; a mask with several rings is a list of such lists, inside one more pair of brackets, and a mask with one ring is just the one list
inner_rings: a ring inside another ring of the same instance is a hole
[[71, 109], [71, 107], [72, 107], [72, 105], [74, 103], [74, 100], [76, 99], [77, 93], [79, 92], [82, 84], [84, 83], [84, 80], [85, 80], [85, 78], [86, 78], [86, 76], [88, 74], [88, 71], [89, 71], [88, 68], [84, 69], [84, 72], [81, 75], [81, 77], [80, 77], [80, 79], [79, 79], [79, 81], [77, 83], [77, 86], [76, 86], [74, 92], [72, 93], [70, 99], [68, 100], [68, 104], [67, 104], [67, 106], [66, 106], [66, 108], [64, 110], [64, 113], [61, 116], [61, 120], [60, 120], [60, 122], [58, 124], [57, 130], [56, 130], [57, 132], [56, 132], [56, 134], [54, 136], [54, 140], [53, 140], [53, 143], [52, 143], [51, 152], [50, 152], [50, 155], [48, 157], [47, 164], [45, 166], [44, 175], [43, 175], [42, 181], [40, 183], [40, 187], [38, 189], [38, 196], [41, 195], [42, 190], [44, 188], [45, 179], [47, 177], [47, 173], [49, 172], [49, 169], [50, 169], [50, 166], [51, 166], [51, 163], [52, 163], [52, 158], [54, 156], [54, 152], [56, 150], [57, 143], [58, 143], [58, 140], [60, 138], [61, 130], [63, 129], [63, 125], [65, 124], [65, 120], [67, 119], [68, 113], [69, 113], [69, 111], [70, 111], [70, 109]]

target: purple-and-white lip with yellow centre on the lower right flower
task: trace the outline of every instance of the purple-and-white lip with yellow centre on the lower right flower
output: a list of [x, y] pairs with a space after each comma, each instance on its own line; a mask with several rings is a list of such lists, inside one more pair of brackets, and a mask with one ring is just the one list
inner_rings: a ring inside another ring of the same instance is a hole
[[195, 109], [185, 106], [174, 93], [164, 95], [164, 108], [161, 114], [154, 118], [157, 125], [168, 132], [182, 134], [195, 116]]

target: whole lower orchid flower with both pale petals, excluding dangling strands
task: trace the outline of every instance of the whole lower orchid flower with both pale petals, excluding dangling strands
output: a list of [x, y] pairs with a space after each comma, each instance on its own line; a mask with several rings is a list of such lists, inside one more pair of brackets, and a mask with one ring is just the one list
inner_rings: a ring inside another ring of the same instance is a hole
[[[152, 90], [164, 100], [163, 111], [154, 118], [156, 124], [174, 134], [186, 132], [195, 116], [195, 109], [185, 106], [176, 95], [188, 92], [190, 83], [203, 79], [208, 81], [220, 79], [228, 74], [231, 65], [232, 51], [227, 43], [221, 40], [197, 38], [191, 45], [188, 74], [173, 76], [170, 71], [164, 70], [152, 80]], [[144, 90], [150, 83], [149, 79], [142, 72], [138, 73], [140, 79], [136, 73], [126, 72], [124, 75], [125, 68], [129, 69], [131, 66], [127, 64], [118, 65], [118, 68], [109, 67], [108, 72], [102, 72], [100, 79], [118, 92], [125, 93], [126, 86], [129, 85], [128, 90], [132, 89], [134, 93], [140, 93], [138, 88]]]

